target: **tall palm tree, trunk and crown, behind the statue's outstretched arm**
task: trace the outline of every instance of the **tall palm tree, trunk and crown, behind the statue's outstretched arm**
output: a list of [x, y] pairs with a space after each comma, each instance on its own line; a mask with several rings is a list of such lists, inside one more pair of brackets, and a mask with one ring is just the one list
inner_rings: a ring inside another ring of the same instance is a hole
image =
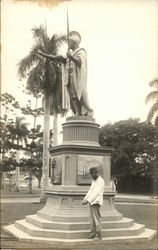
[[[47, 54], [57, 54], [59, 46], [65, 41], [64, 36], [53, 35], [50, 39], [46, 28], [40, 26], [32, 29], [35, 44], [29, 55], [19, 62], [19, 75], [27, 79], [27, 89], [34, 95], [37, 90], [44, 96], [44, 135], [43, 135], [43, 167], [42, 167], [42, 189], [40, 202], [45, 202], [45, 189], [48, 186], [49, 174], [49, 131], [50, 112], [61, 113], [61, 76], [60, 67], [54, 62], [39, 56], [37, 52], [41, 50]], [[54, 133], [55, 136], [55, 133]]]

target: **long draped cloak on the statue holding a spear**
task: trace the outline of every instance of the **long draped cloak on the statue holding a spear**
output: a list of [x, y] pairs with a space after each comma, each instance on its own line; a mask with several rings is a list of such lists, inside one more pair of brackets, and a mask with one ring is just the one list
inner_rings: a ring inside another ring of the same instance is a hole
[[67, 58], [62, 63], [62, 109], [69, 110], [71, 98], [77, 98], [81, 105], [81, 114], [92, 111], [87, 93], [87, 54], [83, 48], [77, 48], [72, 56], [80, 59], [81, 66]]

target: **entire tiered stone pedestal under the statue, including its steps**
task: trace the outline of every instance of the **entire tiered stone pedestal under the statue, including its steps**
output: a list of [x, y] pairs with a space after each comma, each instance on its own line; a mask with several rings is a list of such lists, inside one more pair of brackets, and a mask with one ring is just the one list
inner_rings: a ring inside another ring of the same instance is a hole
[[111, 185], [112, 148], [101, 147], [99, 125], [90, 117], [69, 117], [63, 124], [63, 143], [50, 150], [54, 162], [47, 202], [35, 215], [16, 221], [6, 230], [31, 240], [85, 240], [90, 232], [88, 206], [81, 201], [89, 189], [90, 167], [98, 167], [105, 180], [104, 205], [101, 208], [103, 237], [111, 240], [137, 240], [153, 237], [132, 219], [124, 218], [114, 206], [116, 191]]

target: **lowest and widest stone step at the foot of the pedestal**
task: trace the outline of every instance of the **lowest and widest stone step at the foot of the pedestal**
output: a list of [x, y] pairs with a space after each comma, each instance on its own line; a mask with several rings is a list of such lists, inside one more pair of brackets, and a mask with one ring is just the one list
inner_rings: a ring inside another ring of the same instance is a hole
[[[12, 234], [13, 236], [15, 236], [16, 238], [18, 238], [19, 240], [22, 241], [26, 241], [26, 242], [38, 242], [38, 243], [49, 243], [49, 244], [59, 244], [59, 243], [65, 243], [64, 247], [70, 247], [70, 243], [72, 247], [82, 245], [85, 243], [88, 246], [89, 244], [92, 244], [92, 240], [88, 240], [88, 239], [59, 239], [59, 238], [45, 238], [45, 237], [35, 237], [35, 236], [31, 236], [25, 232], [23, 232], [22, 230], [18, 229], [17, 227], [15, 227], [15, 224], [11, 224], [8, 226], [4, 226], [3, 229]], [[103, 237], [103, 239], [101, 241], [97, 241], [96, 244], [99, 247], [100, 244], [103, 243], [108, 243], [108, 244], [112, 244], [112, 243], [137, 243], [137, 242], [142, 242], [144, 245], [146, 243], [149, 243], [149, 240], [151, 240], [154, 236], [156, 235], [156, 231], [155, 230], [151, 230], [146, 228], [145, 231], [139, 235], [134, 235], [134, 236], [117, 236], [117, 237]], [[94, 242], [95, 240], [93, 240]], [[95, 243], [95, 242], [94, 242]]]

